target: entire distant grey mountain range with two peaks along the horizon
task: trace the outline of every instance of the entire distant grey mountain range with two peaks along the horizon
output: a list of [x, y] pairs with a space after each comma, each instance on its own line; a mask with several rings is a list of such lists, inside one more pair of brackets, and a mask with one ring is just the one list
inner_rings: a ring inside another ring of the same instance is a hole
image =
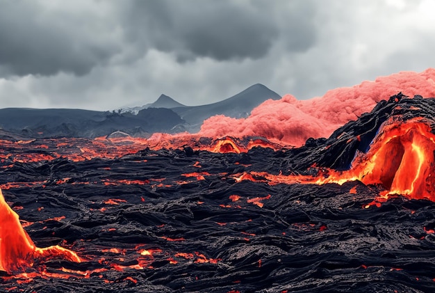
[[81, 109], [0, 109], [0, 136], [26, 138], [148, 136], [154, 132], [197, 132], [211, 116], [247, 117], [265, 100], [279, 100], [274, 91], [250, 86], [227, 100], [202, 106], [185, 106], [167, 95], [134, 111], [88, 111]]

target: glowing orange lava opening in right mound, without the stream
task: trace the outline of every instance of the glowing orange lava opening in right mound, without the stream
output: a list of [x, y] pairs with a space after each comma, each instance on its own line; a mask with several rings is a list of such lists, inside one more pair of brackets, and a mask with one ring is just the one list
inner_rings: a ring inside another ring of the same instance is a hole
[[425, 122], [392, 122], [381, 130], [368, 154], [357, 158], [343, 175], [381, 184], [389, 194], [435, 201], [434, 150], [435, 135]]

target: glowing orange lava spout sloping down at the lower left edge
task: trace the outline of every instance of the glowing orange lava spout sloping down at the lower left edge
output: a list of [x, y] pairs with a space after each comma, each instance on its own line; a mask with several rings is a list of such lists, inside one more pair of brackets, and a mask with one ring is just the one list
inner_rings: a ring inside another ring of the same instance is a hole
[[76, 253], [60, 246], [38, 248], [19, 223], [18, 215], [6, 203], [0, 190], [0, 271], [25, 271], [38, 261], [63, 259], [81, 262]]

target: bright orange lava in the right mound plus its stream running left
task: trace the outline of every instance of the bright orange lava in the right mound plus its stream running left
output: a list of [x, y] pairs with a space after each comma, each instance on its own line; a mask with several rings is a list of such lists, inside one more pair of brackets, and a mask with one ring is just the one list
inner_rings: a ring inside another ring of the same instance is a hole
[[[359, 180], [366, 185], [377, 184], [385, 189], [377, 198], [377, 203], [370, 205], [379, 207], [379, 202], [385, 202], [394, 194], [435, 201], [435, 135], [431, 130], [422, 120], [397, 122], [391, 119], [381, 127], [370, 150], [366, 154], [357, 154], [349, 171], [324, 168], [315, 177], [250, 172], [234, 175], [234, 179], [236, 182], [267, 181], [270, 185], [343, 184]], [[356, 193], [356, 187], [350, 193]], [[254, 203], [254, 199], [250, 202]], [[261, 207], [262, 203], [258, 206]]]

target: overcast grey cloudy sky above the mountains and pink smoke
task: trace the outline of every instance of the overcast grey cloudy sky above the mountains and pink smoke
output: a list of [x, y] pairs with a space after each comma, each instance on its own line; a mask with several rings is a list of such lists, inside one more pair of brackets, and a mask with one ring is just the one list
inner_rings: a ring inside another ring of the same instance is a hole
[[0, 0], [0, 108], [299, 100], [435, 67], [433, 0]]

